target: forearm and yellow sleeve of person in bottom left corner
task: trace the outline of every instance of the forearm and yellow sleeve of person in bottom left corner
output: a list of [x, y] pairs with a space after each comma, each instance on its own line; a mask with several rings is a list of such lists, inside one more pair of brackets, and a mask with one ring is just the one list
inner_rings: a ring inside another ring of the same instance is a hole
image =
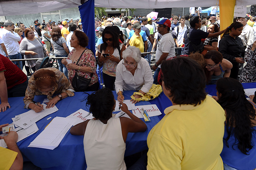
[[[0, 125], [0, 131], [2, 128], [8, 126], [7, 124]], [[10, 131], [7, 136], [1, 137], [7, 145], [7, 148], [0, 147], [0, 169], [23, 169], [23, 158], [22, 154], [16, 144], [18, 141], [18, 134], [15, 131]]]

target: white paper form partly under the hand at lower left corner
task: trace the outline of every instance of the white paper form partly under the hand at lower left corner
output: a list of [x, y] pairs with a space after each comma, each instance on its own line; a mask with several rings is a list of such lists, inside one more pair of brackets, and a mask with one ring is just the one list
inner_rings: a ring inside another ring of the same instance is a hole
[[[13, 131], [16, 131], [18, 134], [18, 141], [20, 142], [21, 140], [25, 139], [26, 137], [29, 137], [30, 135], [36, 133], [38, 131], [38, 127], [36, 126], [36, 123], [32, 124], [26, 129], [23, 129], [21, 127], [15, 128]], [[6, 133], [1, 134], [1, 136], [6, 136]], [[7, 148], [7, 145], [4, 142], [4, 139], [0, 139], [0, 146]]]

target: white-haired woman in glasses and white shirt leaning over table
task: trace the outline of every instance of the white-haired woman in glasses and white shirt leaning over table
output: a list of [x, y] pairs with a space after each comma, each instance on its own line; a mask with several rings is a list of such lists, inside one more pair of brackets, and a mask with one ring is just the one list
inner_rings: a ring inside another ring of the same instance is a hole
[[[149, 92], [152, 85], [153, 76], [147, 60], [141, 58], [139, 48], [129, 46], [123, 52], [123, 60], [116, 67], [117, 100], [124, 100], [124, 96], [121, 95], [124, 90], [136, 90], [144, 95]], [[142, 96], [134, 95], [134, 97], [140, 98]], [[136, 102], [135, 100], [132, 101], [132, 103]]]

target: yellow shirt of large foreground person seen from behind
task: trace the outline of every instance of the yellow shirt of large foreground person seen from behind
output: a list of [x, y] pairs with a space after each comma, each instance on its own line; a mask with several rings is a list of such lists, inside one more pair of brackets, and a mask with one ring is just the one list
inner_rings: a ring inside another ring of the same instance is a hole
[[148, 134], [148, 170], [223, 170], [225, 112], [211, 97], [174, 105]]

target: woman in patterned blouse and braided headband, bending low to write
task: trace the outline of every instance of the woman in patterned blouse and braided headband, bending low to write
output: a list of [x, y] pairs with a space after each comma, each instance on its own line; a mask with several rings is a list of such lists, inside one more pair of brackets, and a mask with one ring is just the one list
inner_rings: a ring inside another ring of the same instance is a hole
[[[28, 80], [26, 96], [23, 99], [24, 108], [31, 108], [36, 113], [43, 110], [43, 105], [33, 103], [35, 95], [47, 95], [50, 101], [46, 108], [50, 108], [54, 107], [58, 101], [68, 96], [74, 96], [74, 92], [74, 88], [69, 83], [68, 78], [60, 70], [55, 68], [39, 69]], [[52, 98], [53, 95], [54, 97]]]

